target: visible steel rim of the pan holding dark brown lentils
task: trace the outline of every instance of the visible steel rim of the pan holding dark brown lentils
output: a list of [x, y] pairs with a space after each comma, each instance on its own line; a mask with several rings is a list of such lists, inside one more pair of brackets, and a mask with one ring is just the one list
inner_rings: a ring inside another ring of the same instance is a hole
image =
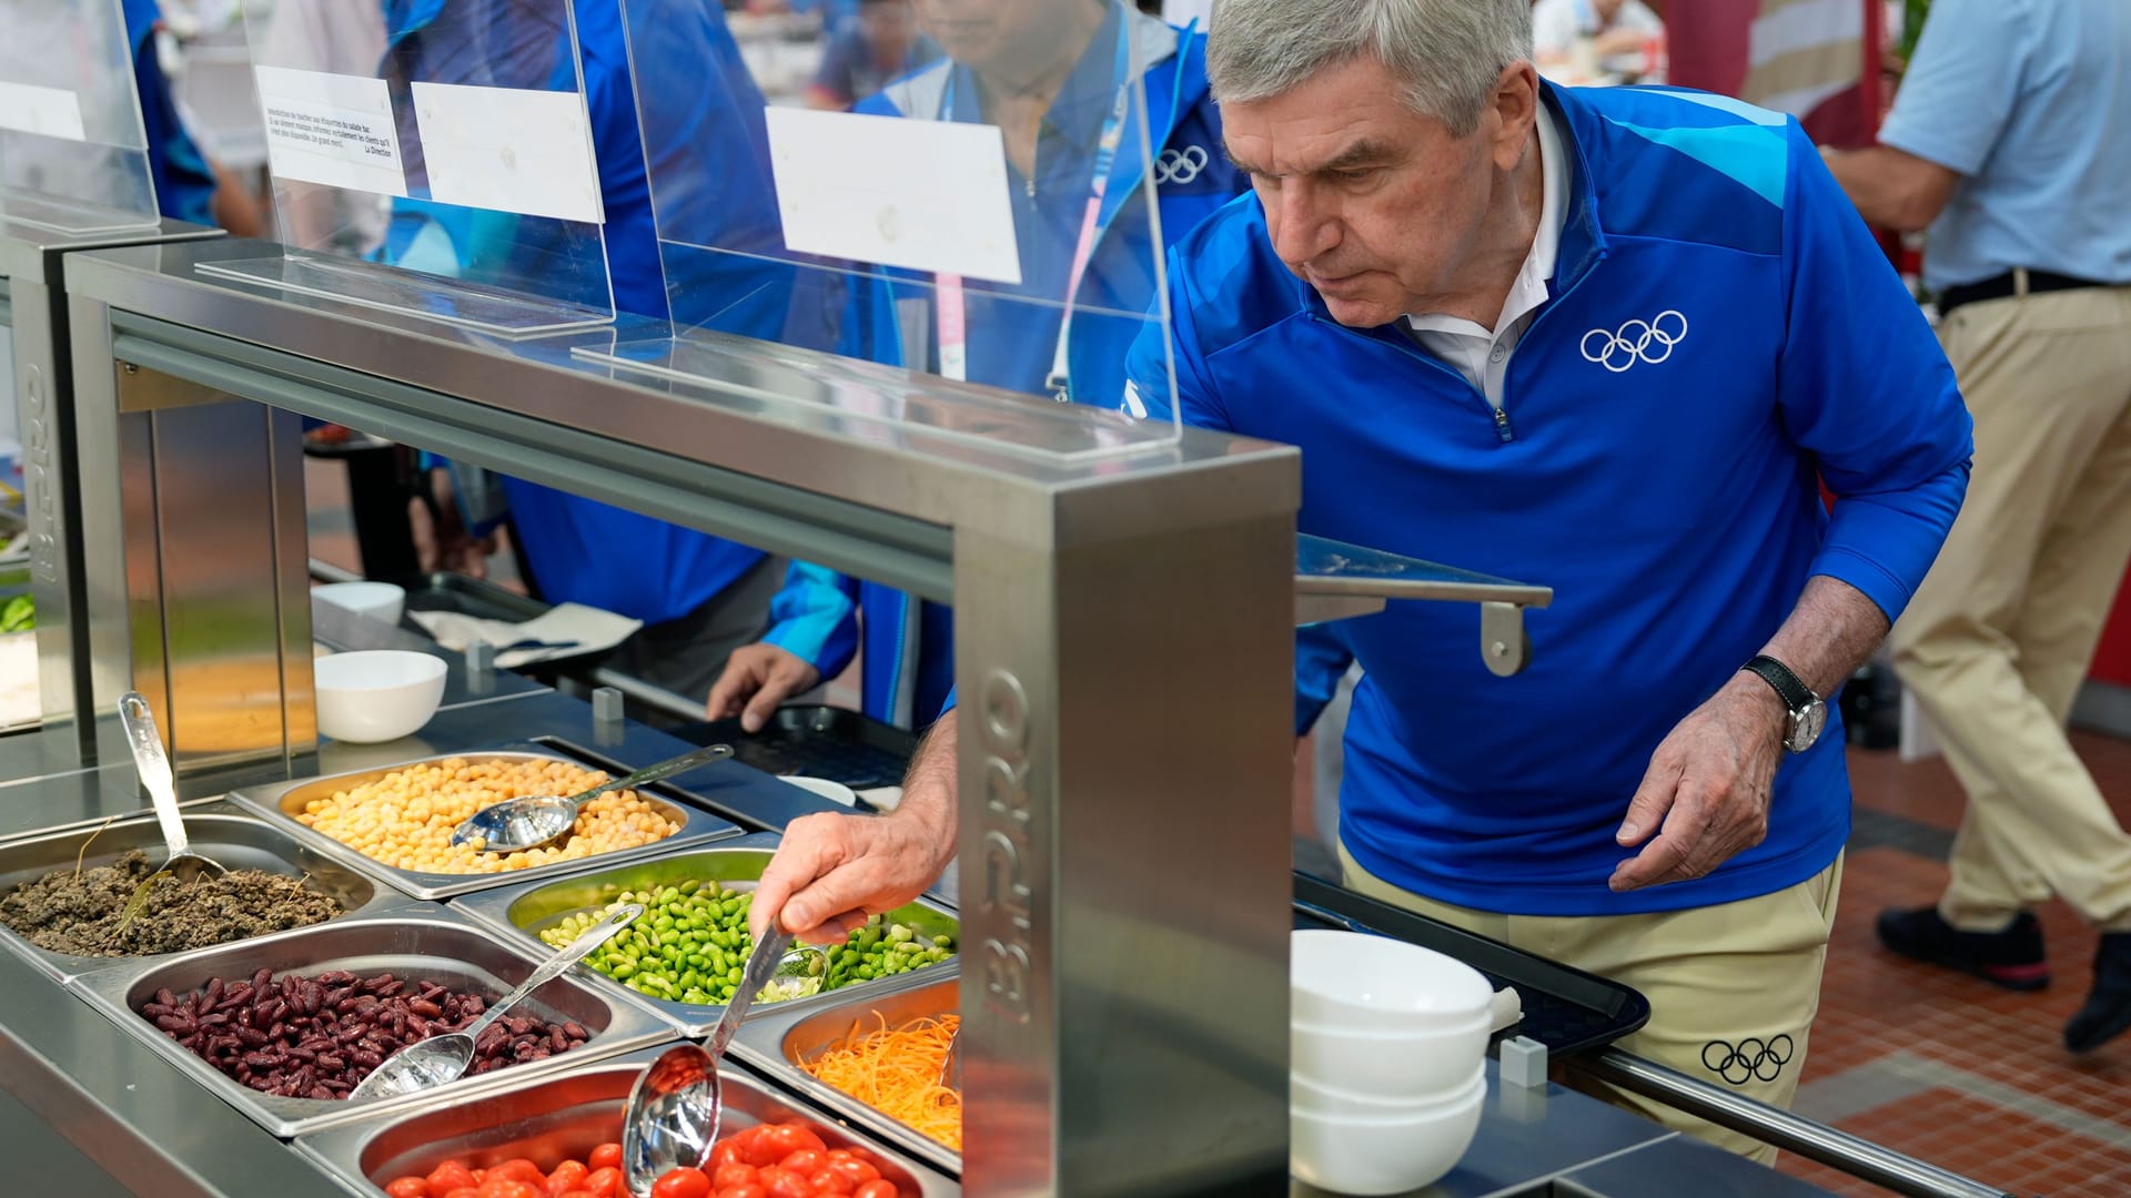
[[[394, 906], [411, 906], [405, 897], [377, 883], [360, 868], [320, 853], [281, 827], [247, 814], [230, 804], [185, 808], [185, 833], [192, 851], [222, 861], [230, 870], [269, 870], [273, 874], [309, 876], [309, 889], [341, 900], [349, 914], [369, 914]], [[128, 851], [141, 848], [149, 861], [162, 861], [162, 827], [151, 812], [132, 814], [109, 825], [70, 825], [58, 831], [36, 831], [0, 842], [0, 893], [43, 878], [55, 870], [109, 865]], [[0, 944], [32, 961], [55, 981], [102, 972], [128, 961], [168, 961], [175, 953], [153, 957], [77, 957], [51, 953], [0, 927]]]

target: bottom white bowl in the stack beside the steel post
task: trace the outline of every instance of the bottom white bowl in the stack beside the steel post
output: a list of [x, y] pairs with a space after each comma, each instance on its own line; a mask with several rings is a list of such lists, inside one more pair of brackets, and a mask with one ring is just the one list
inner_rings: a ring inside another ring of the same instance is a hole
[[1485, 1081], [1462, 1102], [1400, 1119], [1287, 1111], [1287, 1168], [1334, 1194], [1404, 1194], [1458, 1168], [1487, 1104]]

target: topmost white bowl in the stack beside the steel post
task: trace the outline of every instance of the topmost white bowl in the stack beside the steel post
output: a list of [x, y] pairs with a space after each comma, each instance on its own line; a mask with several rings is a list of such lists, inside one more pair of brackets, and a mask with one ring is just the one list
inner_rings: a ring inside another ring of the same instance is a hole
[[1360, 932], [1296, 932], [1287, 942], [1287, 978], [1294, 1017], [1328, 1027], [1451, 1027], [1483, 1015], [1494, 1000], [1494, 987], [1473, 966]]

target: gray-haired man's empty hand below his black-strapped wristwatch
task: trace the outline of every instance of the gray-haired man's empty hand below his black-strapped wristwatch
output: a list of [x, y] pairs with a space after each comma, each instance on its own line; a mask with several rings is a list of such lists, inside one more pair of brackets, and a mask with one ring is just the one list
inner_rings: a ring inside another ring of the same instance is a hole
[[[1615, 840], [1641, 853], [1613, 870], [1632, 891], [1701, 878], [1769, 836], [1769, 791], [1784, 759], [1786, 708], [1737, 674], [1658, 744]], [[1658, 827], [1664, 827], [1658, 833]], [[1658, 833], [1656, 840], [1649, 840]]]

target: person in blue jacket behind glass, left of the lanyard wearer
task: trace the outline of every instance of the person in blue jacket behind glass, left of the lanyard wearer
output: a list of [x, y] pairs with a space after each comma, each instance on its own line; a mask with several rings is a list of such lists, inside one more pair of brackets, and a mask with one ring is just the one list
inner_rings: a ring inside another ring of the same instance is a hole
[[[584, 254], [588, 241], [560, 222], [514, 222], [413, 198], [394, 205], [388, 260], [420, 266], [435, 245], [450, 266], [501, 262], [497, 277], [539, 271], [563, 298], [605, 303], [627, 313], [776, 337], [788, 311], [788, 266], [761, 260], [693, 256], [680, 307], [669, 309], [652, 220], [650, 173], [676, 228], [725, 247], [780, 245], [776, 198], [767, 185], [763, 98], [739, 62], [712, 0], [641, 0], [633, 19], [652, 21], [656, 38], [624, 38], [618, 0], [575, 0], [586, 107], [605, 203], [605, 264]], [[501, 87], [571, 85], [575, 66], [563, 9], [533, 0], [388, 0], [386, 79], [488, 83]], [[686, 79], [661, 90], [652, 128], [639, 128], [631, 49], [648, 79]], [[426, 192], [411, 107], [401, 145], [413, 192]], [[678, 185], [667, 190], [667, 179]], [[737, 303], [735, 303], [737, 298]], [[548, 601], [575, 601], [644, 620], [607, 661], [673, 693], [701, 695], [735, 646], [767, 627], [769, 597], [782, 565], [761, 550], [505, 477], [503, 490], [533, 584]], [[445, 505], [441, 533], [460, 554], [479, 541], [454, 527]], [[484, 533], [479, 524], [473, 533]], [[471, 565], [471, 563], [467, 563]]]

